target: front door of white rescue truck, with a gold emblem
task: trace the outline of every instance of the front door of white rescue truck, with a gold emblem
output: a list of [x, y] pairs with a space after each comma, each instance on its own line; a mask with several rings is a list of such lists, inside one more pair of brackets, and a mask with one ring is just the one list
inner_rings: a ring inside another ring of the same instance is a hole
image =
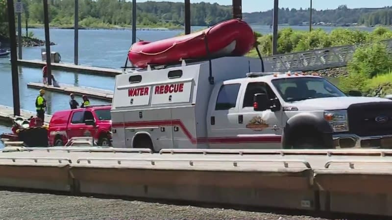
[[[270, 99], [275, 94], [268, 84], [263, 82], [245, 83], [246, 89], [241, 98], [238, 118], [238, 136], [243, 141], [238, 148], [247, 149], [278, 149], [281, 148], [281, 121], [282, 111], [255, 111], [253, 110], [253, 97], [257, 93], [267, 93]], [[279, 105], [280, 106], [280, 105]]]

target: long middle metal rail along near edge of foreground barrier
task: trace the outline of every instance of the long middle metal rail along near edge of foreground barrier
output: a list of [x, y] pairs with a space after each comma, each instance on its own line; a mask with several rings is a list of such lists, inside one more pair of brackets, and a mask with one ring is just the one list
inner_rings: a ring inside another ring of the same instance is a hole
[[238, 163], [282, 163], [285, 168], [289, 168], [289, 163], [301, 163], [305, 165], [306, 168], [311, 169], [310, 163], [305, 160], [257, 160], [257, 159], [238, 159], [238, 160], [227, 160], [227, 159], [141, 159], [141, 158], [78, 158], [76, 163], [81, 161], [87, 161], [91, 164], [91, 161], [117, 161], [117, 164], [122, 164], [122, 161], [130, 162], [150, 162], [151, 165], [155, 165], [155, 162], [188, 162], [190, 166], [194, 166], [195, 162], [230, 162], [233, 163], [233, 167], [238, 167]]

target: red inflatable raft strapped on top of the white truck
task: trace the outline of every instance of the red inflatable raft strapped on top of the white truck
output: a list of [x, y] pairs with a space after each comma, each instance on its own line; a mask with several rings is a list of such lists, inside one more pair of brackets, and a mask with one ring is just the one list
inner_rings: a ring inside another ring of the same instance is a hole
[[128, 59], [133, 66], [145, 68], [147, 64], [164, 65], [182, 59], [207, 58], [205, 37], [212, 57], [243, 56], [256, 41], [252, 28], [246, 22], [232, 19], [189, 35], [156, 42], [137, 42], [129, 49]]

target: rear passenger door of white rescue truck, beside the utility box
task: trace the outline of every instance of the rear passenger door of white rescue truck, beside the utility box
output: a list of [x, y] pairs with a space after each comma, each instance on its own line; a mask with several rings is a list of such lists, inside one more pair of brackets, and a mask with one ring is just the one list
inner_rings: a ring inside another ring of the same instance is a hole
[[[223, 84], [214, 90], [207, 116], [208, 144], [212, 149], [238, 148], [238, 106], [241, 84]], [[217, 94], [218, 93], [218, 94]], [[212, 98], [213, 99], [213, 98]]]

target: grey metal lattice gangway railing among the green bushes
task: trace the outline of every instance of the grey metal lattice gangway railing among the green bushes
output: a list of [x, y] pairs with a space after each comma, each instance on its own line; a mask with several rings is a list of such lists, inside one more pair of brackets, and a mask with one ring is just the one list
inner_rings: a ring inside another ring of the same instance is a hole
[[[392, 52], [392, 39], [384, 40]], [[346, 66], [358, 45], [335, 46], [264, 57], [274, 71], [310, 71]]]

